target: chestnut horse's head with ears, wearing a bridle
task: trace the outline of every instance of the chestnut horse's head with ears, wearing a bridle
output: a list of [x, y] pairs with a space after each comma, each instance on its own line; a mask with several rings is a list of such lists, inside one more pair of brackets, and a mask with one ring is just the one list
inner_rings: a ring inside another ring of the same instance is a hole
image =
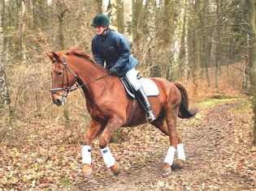
[[53, 62], [51, 70], [52, 88], [51, 96], [54, 104], [61, 106], [65, 100], [72, 85], [76, 83], [76, 70], [71, 65], [70, 57], [67, 53], [46, 53]]

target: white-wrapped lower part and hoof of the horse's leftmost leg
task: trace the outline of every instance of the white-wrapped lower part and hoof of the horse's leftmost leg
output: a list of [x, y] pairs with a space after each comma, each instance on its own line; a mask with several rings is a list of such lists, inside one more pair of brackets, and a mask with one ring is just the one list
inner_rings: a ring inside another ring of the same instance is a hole
[[91, 146], [84, 145], [84, 146], [82, 146], [83, 176], [85, 176], [85, 177], [91, 176], [91, 174], [93, 172], [91, 163], [92, 163]]

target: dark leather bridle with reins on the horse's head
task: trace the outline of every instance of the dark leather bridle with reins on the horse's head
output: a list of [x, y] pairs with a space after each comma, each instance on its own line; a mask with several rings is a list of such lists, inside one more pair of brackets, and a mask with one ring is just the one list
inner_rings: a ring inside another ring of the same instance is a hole
[[[85, 86], [88, 85], [89, 83], [93, 83], [93, 82], [95, 82], [95, 81], [97, 81], [97, 80], [99, 80], [99, 79], [103, 79], [103, 78], [105, 78], [106, 76], [110, 75], [110, 74], [106, 74], [106, 75], [103, 75], [102, 77], [99, 77], [98, 79], [93, 79], [92, 81], [89, 81], [88, 83], [79, 84], [78, 82], [81, 82], [81, 80], [80, 80], [80, 78], [78, 77], [78, 75], [77, 75], [74, 71], [72, 71], [71, 68], [67, 65], [67, 61], [66, 61], [64, 55], [61, 54], [60, 56], [63, 57], [63, 62], [61, 62], [61, 64], [63, 64], [63, 66], [64, 66], [64, 67], [63, 67], [63, 84], [62, 84], [62, 87], [57, 87], [57, 88], [52, 88], [52, 89], [50, 89], [50, 92], [51, 92], [51, 94], [57, 94], [57, 95], [59, 95], [59, 96], [62, 96], [63, 99], [65, 99], [65, 98], [67, 97], [67, 94], [68, 94], [69, 92], [75, 91], [75, 90], [77, 90], [77, 89], [80, 88], [80, 87], [85, 87]], [[69, 71], [72, 73], [72, 75], [74, 75], [74, 76], [76, 77], [76, 87], [71, 87], [71, 86], [69, 86], [67, 70], [69, 70]], [[66, 76], [67, 76], [67, 88], [66, 88], [66, 89], [63, 88], [63, 86], [64, 86], [64, 78], [65, 78], [64, 74], [66, 74]], [[59, 93], [56, 92], [56, 91], [61, 91], [61, 90], [64, 91], [63, 94], [59, 94]]]

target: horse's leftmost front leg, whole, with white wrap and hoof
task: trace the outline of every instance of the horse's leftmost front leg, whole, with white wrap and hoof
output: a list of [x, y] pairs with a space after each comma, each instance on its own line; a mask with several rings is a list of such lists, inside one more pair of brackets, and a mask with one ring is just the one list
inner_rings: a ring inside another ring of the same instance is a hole
[[94, 121], [93, 119], [90, 121], [89, 128], [86, 131], [85, 138], [82, 146], [82, 164], [83, 164], [83, 175], [90, 176], [93, 172], [93, 168], [91, 167], [92, 156], [91, 156], [91, 144], [93, 139], [101, 133], [104, 124], [99, 123], [98, 121]]

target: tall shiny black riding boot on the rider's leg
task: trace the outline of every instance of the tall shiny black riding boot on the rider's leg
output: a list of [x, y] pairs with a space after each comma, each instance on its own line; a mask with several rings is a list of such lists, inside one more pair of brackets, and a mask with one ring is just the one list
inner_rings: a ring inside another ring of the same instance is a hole
[[136, 95], [137, 95], [137, 98], [140, 100], [143, 108], [145, 109], [145, 112], [147, 114], [147, 120], [149, 122], [154, 121], [155, 120], [154, 113], [153, 113], [152, 108], [150, 106], [150, 102], [149, 102], [147, 96], [145, 95], [145, 91], [143, 90], [142, 87], [140, 87], [136, 91]]

